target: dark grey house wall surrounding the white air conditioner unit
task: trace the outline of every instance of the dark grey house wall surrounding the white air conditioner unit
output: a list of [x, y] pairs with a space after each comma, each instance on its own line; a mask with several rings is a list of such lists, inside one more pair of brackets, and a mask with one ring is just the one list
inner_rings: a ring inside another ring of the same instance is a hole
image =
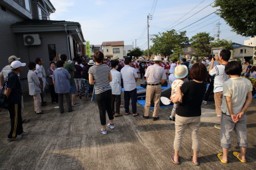
[[[29, 33], [26, 33], [29, 34]], [[36, 34], [36, 33], [33, 33]], [[67, 36], [66, 32], [44, 32], [38, 33], [41, 38], [41, 45], [38, 46], [25, 46], [23, 40], [23, 34], [17, 34], [16, 41], [18, 46], [18, 54], [21, 58], [21, 62], [28, 64], [30, 61], [35, 61], [36, 58], [42, 58], [44, 60], [44, 68], [48, 70], [50, 59], [48, 54], [48, 45], [55, 44], [56, 53], [65, 53], [68, 56], [67, 49]], [[20, 74], [20, 78], [23, 84], [23, 91], [28, 90], [27, 87], [27, 72], [28, 67], [24, 67], [23, 72]]]

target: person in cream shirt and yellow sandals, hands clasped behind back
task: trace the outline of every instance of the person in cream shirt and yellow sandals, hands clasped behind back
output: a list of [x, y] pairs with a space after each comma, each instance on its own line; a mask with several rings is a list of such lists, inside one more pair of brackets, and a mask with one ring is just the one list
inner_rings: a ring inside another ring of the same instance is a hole
[[240, 153], [233, 155], [246, 162], [245, 153], [248, 147], [246, 133], [246, 110], [252, 102], [252, 84], [246, 78], [240, 77], [242, 65], [237, 61], [229, 62], [225, 73], [230, 77], [223, 84], [223, 102], [221, 105], [221, 133], [220, 142], [223, 153], [218, 153], [218, 159], [223, 163], [228, 162], [229, 148], [231, 147], [232, 131], [235, 130]]

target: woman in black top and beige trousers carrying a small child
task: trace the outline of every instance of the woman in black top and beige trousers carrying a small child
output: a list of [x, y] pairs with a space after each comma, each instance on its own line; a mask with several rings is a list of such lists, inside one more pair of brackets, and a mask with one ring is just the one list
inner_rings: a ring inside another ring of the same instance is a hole
[[[175, 138], [174, 155], [171, 156], [172, 162], [179, 164], [178, 153], [181, 149], [181, 141], [186, 127], [192, 133], [192, 164], [199, 165], [198, 152], [199, 126], [201, 122], [201, 104], [206, 91], [206, 84], [203, 83], [206, 78], [206, 67], [202, 63], [195, 63], [189, 73], [192, 81], [183, 83], [180, 90], [182, 93], [182, 103], [176, 109], [175, 117]], [[177, 103], [179, 97], [175, 97], [172, 102]]]

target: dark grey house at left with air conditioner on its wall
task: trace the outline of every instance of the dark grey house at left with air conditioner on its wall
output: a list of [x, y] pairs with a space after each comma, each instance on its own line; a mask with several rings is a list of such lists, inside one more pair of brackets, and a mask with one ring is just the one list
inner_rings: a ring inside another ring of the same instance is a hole
[[[65, 53], [72, 59], [77, 52], [84, 53], [84, 36], [81, 25], [71, 21], [50, 20], [55, 12], [49, 0], [0, 1], [0, 69], [8, 64], [8, 57], [16, 55], [21, 62], [44, 59], [45, 70], [50, 58]], [[27, 90], [27, 71], [24, 67], [20, 78], [23, 90]]]

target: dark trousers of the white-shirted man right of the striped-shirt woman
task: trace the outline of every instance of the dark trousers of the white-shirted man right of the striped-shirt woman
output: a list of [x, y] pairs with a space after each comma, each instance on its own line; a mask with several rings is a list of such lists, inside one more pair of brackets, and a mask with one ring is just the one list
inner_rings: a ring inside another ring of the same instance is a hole
[[129, 99], [131, 99], [132, 114], [137, 113], [137, 89], [124, 92], [125, 113], [129, 113]]

